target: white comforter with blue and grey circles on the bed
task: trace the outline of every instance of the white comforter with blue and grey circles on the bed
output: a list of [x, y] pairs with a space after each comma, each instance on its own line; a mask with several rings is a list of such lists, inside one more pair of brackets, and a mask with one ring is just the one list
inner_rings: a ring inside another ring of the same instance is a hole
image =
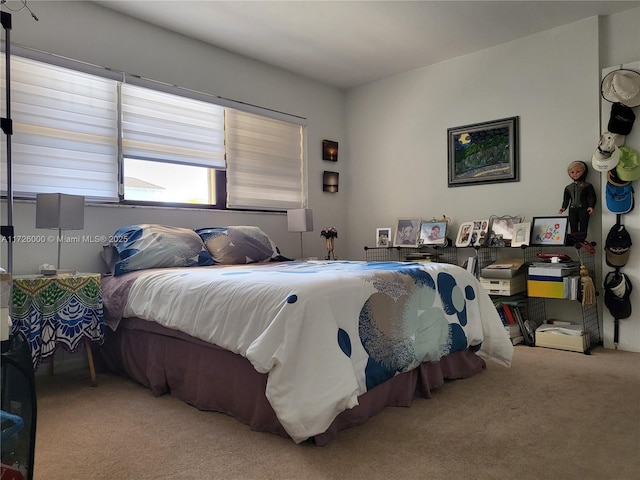
[[123, 316], [238, 353], [296, 442], [324, 432], [399, 372], [467, 347], [509, 366], [513, 346], [466, 270], [440, 263], [286, 262], [149, 270]]

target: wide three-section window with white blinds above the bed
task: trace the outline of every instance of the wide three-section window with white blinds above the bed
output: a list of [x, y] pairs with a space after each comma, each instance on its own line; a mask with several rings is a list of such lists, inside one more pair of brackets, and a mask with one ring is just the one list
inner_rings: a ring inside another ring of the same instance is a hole
[[62, 63], [11, 57], [16, 195], [258, 210], [304, 204], [304, 119]]

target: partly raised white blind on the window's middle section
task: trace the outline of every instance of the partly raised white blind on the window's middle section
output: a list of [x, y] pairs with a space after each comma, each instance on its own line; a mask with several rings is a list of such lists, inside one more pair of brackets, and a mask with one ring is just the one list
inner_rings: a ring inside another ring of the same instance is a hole
[[125, 158], [224, 168], [224, 108], [122, 85]]

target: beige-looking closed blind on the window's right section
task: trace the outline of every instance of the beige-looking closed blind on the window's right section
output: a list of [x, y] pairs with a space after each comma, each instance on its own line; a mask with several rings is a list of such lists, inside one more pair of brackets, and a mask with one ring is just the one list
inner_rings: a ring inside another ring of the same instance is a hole
[[227, 206], [286, 210], [304, 198], [302, 126], [227, 109]]

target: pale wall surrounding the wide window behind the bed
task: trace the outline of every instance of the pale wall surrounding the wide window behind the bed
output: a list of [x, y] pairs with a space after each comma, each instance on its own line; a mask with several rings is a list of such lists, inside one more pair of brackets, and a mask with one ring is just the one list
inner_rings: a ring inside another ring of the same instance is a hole
[[[305, 255], [324, 256], [320, 237], [323, 225], [335, 225], [345, 235], [346, 197], [322, 192], [322, 172], [341, 171], [344, 162], [323, 162], [322, 140], [344, 144], [344, 92], [285, 72], [278, 68], [211, 47], [139, 22], [87, 2], [29, 2], [37, 13], [12, 15], [11, 43], [119, 71], [141, 75], [261, 107], [307, 118], [309, 207], [314, 210], [316, 231], [304, 234]], [[4, 36], [3, 36], [4, 38]], [[4, 67], [3, 67], [4, 68]], [[3, 94], [4, 99], [4, 94]], [[3, 103], [4, 111], [4, 103]], [[342, 151], [340, 152], [342, 155]], [[2, 160], [6, 151], [2, 151]], [[284, 255], [299, 255], [297, 233], [287, 232], [284, 214], [251, 214], [203, 210], [168, 210], [88, 206], [85, 230], [75, 235], [110, 235], [116, 228], [137, 222], [184, 227], [251, 224], [262, 227]], [[6, 202], [2, 201], [6, 224]], [[35, 230], [35, 205], [16, 201], [13, 224], [17, 235], [47, 233]], [[55, 233], [55, 232], [54, 232]], [[99, 245], [74, 244], [63, 248], [62, 257], [85, 271], [101, 271]], [[53, 243], [14, 244], [13, 271], [32, 273], [44, 263], [55, 263]], [[338, 253], [340, 252], [338, 244]], [[6, 244], [0, 249], [0, 265], [6, 265]]]

